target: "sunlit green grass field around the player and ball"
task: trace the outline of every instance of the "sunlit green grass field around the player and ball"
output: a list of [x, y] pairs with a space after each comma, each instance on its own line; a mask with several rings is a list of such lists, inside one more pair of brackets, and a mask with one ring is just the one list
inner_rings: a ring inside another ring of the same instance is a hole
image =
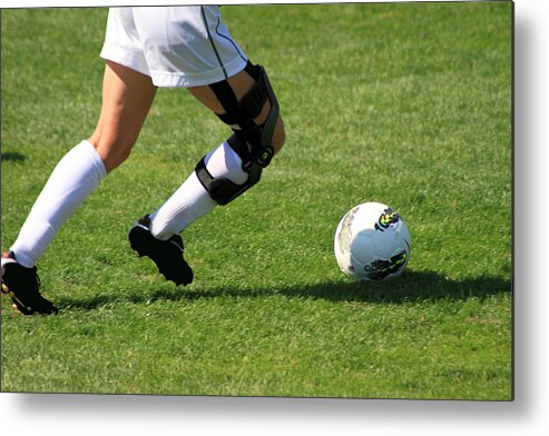
[[[287, 130], [263, 181], [184, 232], [176, 288], [127, 230], [223, 141], [185, 91], [39, 262], [58, 316], [2, 298], [2, 390], [512, 398], [511, 3], [224, 7]], [[1, 246], [100, 109], [106, 9], [3, 10]], [[362, 201], [412, 235], [408, 270], [356, 284], [335, 227]]]

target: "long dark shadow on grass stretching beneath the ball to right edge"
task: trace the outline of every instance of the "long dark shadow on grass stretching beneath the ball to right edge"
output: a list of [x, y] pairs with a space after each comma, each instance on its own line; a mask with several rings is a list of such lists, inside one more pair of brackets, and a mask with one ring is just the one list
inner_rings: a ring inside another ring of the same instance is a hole
[[371, 304], [404, 304], [419, 301], [463, 300], [511, 293], [511, 281], [496, 277], [479, 277], [461, 281], [447, 279], [429, 271], [406, 271], [402, 277], [386, 283], [327, 281], [314, 285], [273, 287], [259, 289], [214, 288], [187, 289], [166, 287], [153, 293], [124, 296], [100, 295], [90, 299], [58, 300], [59, 307], [95, 309], [115, 303], [153, 303], [156, 300], [196, 300], [202, 298], [256, 298], [282, 295], [290, 298], [317, 298], [331, 301]]

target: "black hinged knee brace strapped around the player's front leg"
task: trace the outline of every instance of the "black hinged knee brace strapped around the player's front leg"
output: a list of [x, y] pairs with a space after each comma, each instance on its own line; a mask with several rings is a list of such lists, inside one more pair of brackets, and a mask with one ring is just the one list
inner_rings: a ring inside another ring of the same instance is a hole
[[[278, 101], [262, 66], [248, 61], [245, 70], [255, 79], [255, 83], [241, 101], [226, 80], [210, 85], [225, 109], [225, 113], [218, 117], [234, 132], [227, 142], [241, 157], [242, 169], [248, 174], [247, 181], [237, 185], [225, 177], [213, 177], [204, 158], [197, 164], [195, 171], [198, 180], [219, 205], [228, 204], [257, 184], [263, 168], [271, 164], [274, 156], [273, 135], [278, 119]], [[267, 118], [262, 125], [256, 125], [253, 120], [259, 116], [267, 100], [271, 103]]]

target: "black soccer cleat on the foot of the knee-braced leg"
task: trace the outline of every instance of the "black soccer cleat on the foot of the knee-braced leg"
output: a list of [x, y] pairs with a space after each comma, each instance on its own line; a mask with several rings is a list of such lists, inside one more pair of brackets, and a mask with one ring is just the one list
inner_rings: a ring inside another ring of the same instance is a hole
[[193, 270], [183, 258], [183, 240], [174, 235], [168, 240], [155, 238], [150, 232], [148, 215], [131, 227], [128, 235], [131, 248], [139, 257], [149, 257], [158, 267], [158, 271], [176, 285], [188, 285], [193, 281]]

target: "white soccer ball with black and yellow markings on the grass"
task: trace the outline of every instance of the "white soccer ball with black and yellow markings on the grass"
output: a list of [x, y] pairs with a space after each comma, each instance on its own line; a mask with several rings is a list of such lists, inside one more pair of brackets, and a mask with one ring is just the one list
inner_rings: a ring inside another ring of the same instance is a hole
[[337, 265], [356, 280], [388, 280], [410, 259], [410, 232], [399, 214], [381, 202], [363, 202], [340, 221], [334, 237]]

